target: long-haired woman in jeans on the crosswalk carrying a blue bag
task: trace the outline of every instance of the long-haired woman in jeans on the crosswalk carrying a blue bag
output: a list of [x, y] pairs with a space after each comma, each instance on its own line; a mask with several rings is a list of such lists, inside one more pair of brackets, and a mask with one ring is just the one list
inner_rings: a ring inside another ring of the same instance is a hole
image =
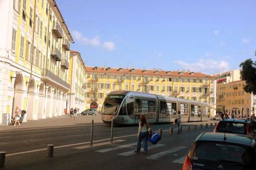
[[139, 153], [141, 151], [141, 142], [143, 140], [143, 148], [144, 154], [147, 154], [147, 136], [148, 136], [148, 132], [147, 132], [147, 120], [146, 117], [141, 114], [141, 117], [139, 117], [139, 130], [138, 130], [138, 143], [137, 143], [137, 150], [135, 152]]

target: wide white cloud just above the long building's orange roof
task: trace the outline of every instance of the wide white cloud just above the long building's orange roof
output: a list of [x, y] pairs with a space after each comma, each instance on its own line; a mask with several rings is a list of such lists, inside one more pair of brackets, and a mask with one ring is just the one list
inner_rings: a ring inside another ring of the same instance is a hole
[[193, 72], [201, 72], [206, 74], [217, 74], [229, 70], [227, 61], [217, 61], [212, 59], [199, 59], [196, 63], [186, 63], [185, 61], [174, 61], [179, 64], [182, 69], [189, 69]]

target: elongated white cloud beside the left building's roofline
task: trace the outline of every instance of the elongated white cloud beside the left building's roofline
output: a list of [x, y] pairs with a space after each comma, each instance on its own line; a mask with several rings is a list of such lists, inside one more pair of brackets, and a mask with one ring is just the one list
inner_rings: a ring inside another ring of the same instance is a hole
[[115, 43], [114, 42], [103, 42], [101, 43], [100, 36], [95, 36], [92, 39], [86, 38], [82, 36], [82, 34], [79, 31], [72, 31], [72, 36], [81, 44], [83, 45], [92, 45], [94, 47], [103, 47], [109, 51], [113, 51], [115, 49]]

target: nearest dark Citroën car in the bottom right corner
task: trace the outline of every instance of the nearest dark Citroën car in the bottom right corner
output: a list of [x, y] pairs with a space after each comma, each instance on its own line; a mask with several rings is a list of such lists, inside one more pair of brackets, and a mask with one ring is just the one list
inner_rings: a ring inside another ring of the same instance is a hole
[[256, 169], [255, 139], [239, 134], [203, 132], [183, 164], [186, 169]]

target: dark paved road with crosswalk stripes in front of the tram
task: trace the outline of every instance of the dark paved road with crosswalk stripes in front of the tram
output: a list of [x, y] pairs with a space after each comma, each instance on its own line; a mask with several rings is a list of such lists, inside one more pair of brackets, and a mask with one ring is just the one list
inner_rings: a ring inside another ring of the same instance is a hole
[[[110, 126], [94, 125], [93, 146], [90, 146], [90, 124], [61, 127], [31, 128], [1, 131], [0, 151], [6, 151], [2, 169], [181, 169], [184, 156], [197, 135], [212, 131], [208, 126], [175, 134], [173, 124], [152, 125], [154, 131], [163, 130], [156, 145], [148, 144], [148, 153], [135, 154], [138, 126], [114, 127], [110, 143]], [[210, 125], [210, 123], [209, 123]], [[170, 134], [170, 127], [174, 134]], [[47, 144], [54, 144], [54, 156], [47, 157]], [[143, 147], [142, 147], [143, 148]]]

